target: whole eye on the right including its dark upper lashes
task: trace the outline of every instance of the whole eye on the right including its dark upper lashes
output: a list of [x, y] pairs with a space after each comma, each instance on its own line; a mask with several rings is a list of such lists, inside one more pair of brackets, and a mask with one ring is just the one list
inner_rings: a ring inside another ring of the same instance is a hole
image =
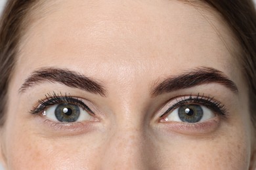
[[215, 116], [226, 117], [228, 114], [221, 102], [213, 97], [205, 97], [198, 94], [186, 95], [172, 99], [169, 107], [161, 116], [160, 122], [186, 122], [195, 124], [214, 118]]

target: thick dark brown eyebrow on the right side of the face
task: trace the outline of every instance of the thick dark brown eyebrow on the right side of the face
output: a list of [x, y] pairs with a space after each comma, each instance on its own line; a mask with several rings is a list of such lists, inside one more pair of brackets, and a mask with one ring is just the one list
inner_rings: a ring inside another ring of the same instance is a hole
[[232, 92], [238, 93], [236, 84], [228, 79], [223, 72], [211, 67], [200, 67], [163, 80], [155, 88], [152, 88], [152, 96], [209, 83], [222, 84]]

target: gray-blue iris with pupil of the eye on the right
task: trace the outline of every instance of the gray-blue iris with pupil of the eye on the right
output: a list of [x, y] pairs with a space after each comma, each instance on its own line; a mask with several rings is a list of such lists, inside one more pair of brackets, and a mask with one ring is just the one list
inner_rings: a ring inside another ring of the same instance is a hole
[[203, 109], [200, 105], [182, 105], [178, 110], [182, 122], [196, 123], [203, 117]]

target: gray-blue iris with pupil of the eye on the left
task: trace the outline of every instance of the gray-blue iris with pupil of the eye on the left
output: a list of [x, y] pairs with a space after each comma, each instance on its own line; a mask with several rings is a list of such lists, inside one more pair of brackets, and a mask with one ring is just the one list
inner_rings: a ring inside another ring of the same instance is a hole
[[75, 122], [79, 118], [80, 109], [77, 105], [62, 103], [56, 107], [54, 114], [60, 122]]

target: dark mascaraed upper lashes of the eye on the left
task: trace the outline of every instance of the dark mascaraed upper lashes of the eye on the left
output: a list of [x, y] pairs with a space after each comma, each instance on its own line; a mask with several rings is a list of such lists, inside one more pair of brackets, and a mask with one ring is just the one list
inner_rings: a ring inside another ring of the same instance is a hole
[[81, 101], [80, 99], [77, 99], [76, 97], [72, 97], [70, 94], [67, 95], [67, 93], [65, 95], [62, 95], [62, 93], [60, 93], [59, 95], [58, 93], [55, 93], [55, 92], [53, 92], [53, 94], [47, 93], [45, 95], [45, 99], [40, 99], [38, 103], [40, 105], [38, 107], [33, 107], [33, 109], [30, 110], [30, 113], [38, 114], [39, 112], [42, 112], [49, 106], [57, 105], [60, 103], [71, 103], [74, 105], [78, 105], [82, 109], [85, 109], [91, 112], [92, 114], [94, 114], [94, 112], [87, 105], [85, 105], [83, 101]]

